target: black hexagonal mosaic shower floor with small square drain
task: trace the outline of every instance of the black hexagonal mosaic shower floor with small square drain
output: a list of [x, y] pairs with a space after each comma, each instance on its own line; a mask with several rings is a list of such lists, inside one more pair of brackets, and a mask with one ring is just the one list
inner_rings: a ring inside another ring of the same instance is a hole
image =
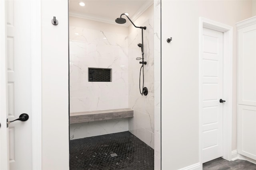
[[75, 139], [70, 170], [154, 170], [154, 150], [128, 131]]

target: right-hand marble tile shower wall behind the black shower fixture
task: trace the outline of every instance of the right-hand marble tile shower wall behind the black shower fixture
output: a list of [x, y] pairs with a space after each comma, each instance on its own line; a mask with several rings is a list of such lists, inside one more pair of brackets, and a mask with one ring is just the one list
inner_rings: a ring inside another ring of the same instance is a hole
[[141, 29], [132, 29], [126, 43], [129, 49], [129, 108], [134, 109], [134, 117], [129, 120], [129, 131], [154, 149], [154, 15], [151, 16], [146, 22], [139, 24], [147, 27], [143, 30], [144, 61], [147, 62], [144, 65], [144, 86], [148, 88], [147, 96], [140, 94], [141, 64], [136, 60], [136, 57], [142, 57], [137, 45], [142, 41]]

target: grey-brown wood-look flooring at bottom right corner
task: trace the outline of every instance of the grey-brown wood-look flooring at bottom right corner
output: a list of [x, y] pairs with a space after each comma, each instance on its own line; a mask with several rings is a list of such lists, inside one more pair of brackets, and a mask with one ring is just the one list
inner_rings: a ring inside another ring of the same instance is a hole
[[217, 158], [203, 164], [203, 170], [256, 170], [256, 164], [247, 160], [227, 161]]

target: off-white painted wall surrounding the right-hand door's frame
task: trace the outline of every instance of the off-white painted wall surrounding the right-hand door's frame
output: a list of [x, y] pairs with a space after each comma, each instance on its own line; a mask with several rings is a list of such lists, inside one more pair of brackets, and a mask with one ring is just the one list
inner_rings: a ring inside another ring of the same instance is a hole
[[[234, 28], [232, 150], [236, 149], [237, 31], [252, 15], [251, 1], [162, 0], [162, 169], [199, 162], [199, 17]], [[171, 43], [166, 39], [172, 37]]]

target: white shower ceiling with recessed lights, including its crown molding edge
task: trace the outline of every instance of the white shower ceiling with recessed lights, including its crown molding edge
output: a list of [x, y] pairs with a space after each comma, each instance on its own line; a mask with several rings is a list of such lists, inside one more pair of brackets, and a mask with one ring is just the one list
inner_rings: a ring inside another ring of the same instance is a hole
[[[80, 6], [79, 2], [84, 2], [85, 6]], [[153, 0], [69, 0], [69, 15], [117, 24], [115, 20], [121, 14], [128, 12], [129, 18], [135, 21], [151, 4]], [[129, 26], [130, 22], [122, 25]]]

